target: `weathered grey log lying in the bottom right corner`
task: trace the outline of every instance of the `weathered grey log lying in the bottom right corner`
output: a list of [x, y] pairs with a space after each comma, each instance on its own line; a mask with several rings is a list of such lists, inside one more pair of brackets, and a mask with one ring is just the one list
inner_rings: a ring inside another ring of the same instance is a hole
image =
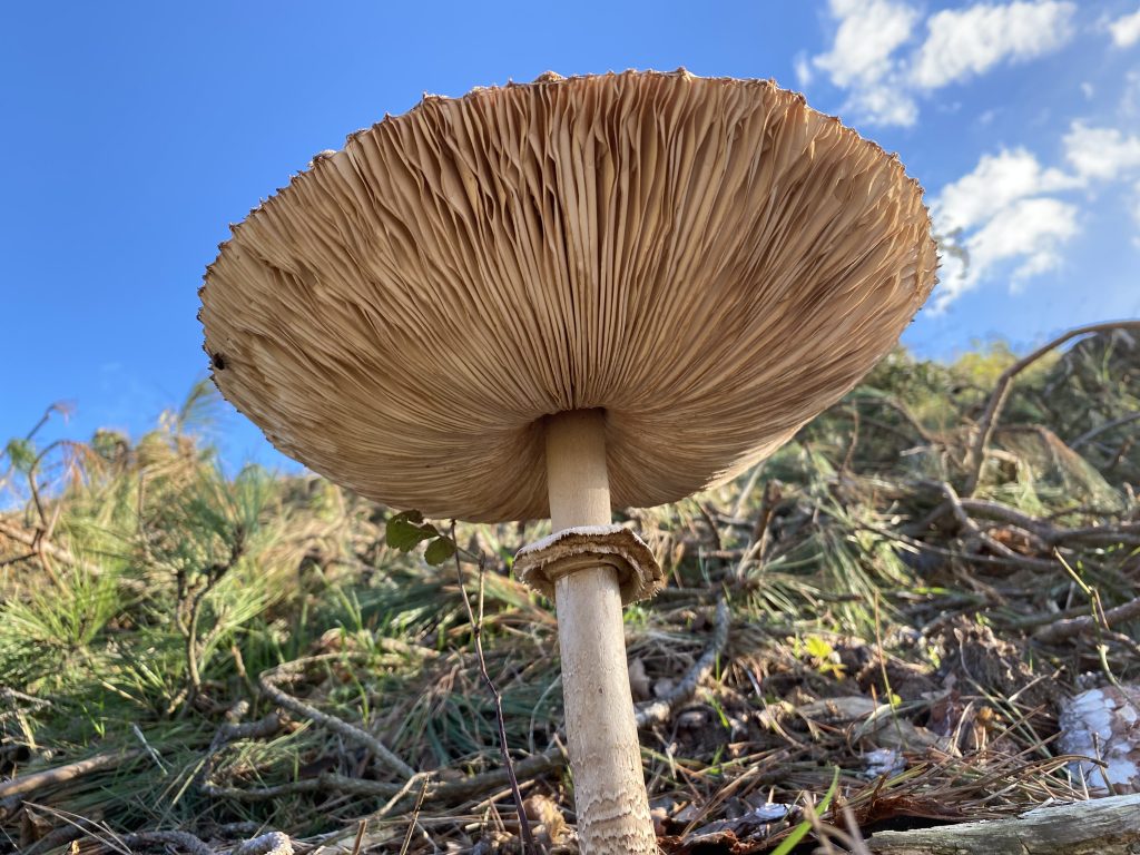
[[880, 831], [868, 842], [889, 855], [1132, 855], [1140, 848], [1140, 795], [1040, 807], [1010, 820]]

